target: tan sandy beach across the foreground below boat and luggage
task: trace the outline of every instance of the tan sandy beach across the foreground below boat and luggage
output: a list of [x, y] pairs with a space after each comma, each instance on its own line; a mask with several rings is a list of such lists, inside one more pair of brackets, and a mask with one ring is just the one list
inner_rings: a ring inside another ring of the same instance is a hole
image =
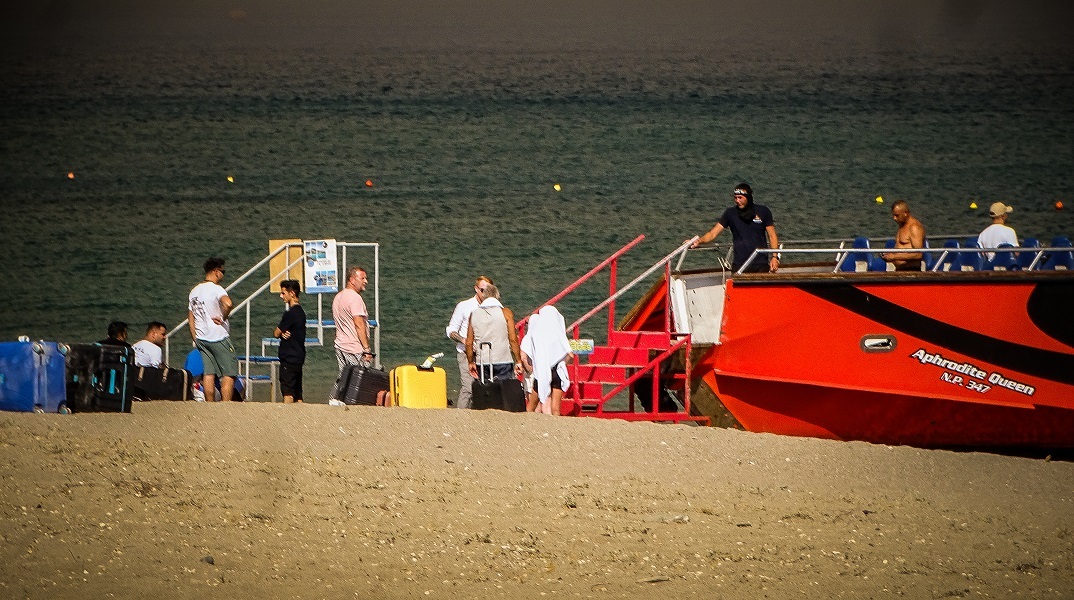
[[1074, 464], [596, 419], [0, 413], [4, 598], [1072, 598]]

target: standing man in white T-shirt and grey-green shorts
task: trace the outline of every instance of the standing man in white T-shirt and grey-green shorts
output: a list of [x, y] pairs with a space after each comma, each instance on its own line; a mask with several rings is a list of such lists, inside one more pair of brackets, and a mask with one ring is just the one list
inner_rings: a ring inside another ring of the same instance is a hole
[[219, 377], [220, 399], [227, 403], [231, 401], [235, 392], [235, 379], [238, 377], [238, 361], [229, 337], [228, 324], [228, 316], [234, 305], [228, 291], [220, 286], [223, 280], [223, 259], [212, 258], [205, 261], [204, 266], [205, 280], [190, 290], [187, 320], [190, 324], [190, 337], [194, 340], [205, 367], [202, 376], [205, 401], [214, 401], [216, 378]]

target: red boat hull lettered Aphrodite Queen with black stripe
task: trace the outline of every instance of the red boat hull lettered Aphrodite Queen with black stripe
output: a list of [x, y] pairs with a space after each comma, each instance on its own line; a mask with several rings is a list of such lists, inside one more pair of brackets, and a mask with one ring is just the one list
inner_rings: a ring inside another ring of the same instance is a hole
[[695, 372], [748, 430], [1074, 448], [1074, 279], [740, 277]]

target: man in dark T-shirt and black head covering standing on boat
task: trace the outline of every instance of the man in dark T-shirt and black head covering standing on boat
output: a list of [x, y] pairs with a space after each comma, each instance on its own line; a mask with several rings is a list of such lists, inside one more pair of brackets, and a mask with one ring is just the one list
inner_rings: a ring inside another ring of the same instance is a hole
[[[724, 214], [712, 225], [705, 235], [691, 245], [697, 248], [701, 244], [708, 244], [720, 235], [725, 229], [731, 230], [731, 242], [735, 251], [731, 259], [731, 269], [742, 268], [746, 259], [758, 248], [778, 249], [780, 240], [775, 236], [775, 223], [772, 220], [772, 211], [767, 206], [753, 203], [753, 189], [746, 184], [735, 186], [735, 206], [724, 210]], [[746, 267], [746, 273], [775, 273], [780, 268], [780, 258], [769, 254], [768, 260], [758, 257]]]

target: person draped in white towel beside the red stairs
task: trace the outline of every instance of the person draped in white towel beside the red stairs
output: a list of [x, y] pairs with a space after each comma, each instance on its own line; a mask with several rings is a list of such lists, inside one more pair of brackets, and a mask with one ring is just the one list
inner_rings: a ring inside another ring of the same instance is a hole
[[567, 341], [563, 314], [554, 306], [545, 306], [529, 317], [529, 328], [522, 340], [522, 360], [534, 374], [536, 401], [526, 410], [560, 414], [563, 394], [570, 387], [567, 360], [572, 356]]

